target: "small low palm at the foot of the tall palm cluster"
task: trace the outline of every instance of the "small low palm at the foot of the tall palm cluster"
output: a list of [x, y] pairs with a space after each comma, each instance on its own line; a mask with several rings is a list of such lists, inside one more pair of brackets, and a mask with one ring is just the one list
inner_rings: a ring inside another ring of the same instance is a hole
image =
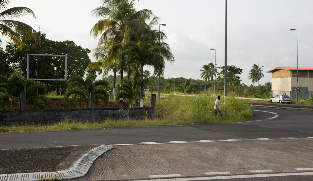
[[118, 101], [120, 98], [127, 98], [131, 103], [131, 108], [133, 107], [133, 100], [135, 100], [135, 104], [139, 104], [138, 100], [138, 89], [135, 88], [136, 83], [132, 80], [123, 79], [120, 87], [120, 92], [116, 95], [116, 100]]

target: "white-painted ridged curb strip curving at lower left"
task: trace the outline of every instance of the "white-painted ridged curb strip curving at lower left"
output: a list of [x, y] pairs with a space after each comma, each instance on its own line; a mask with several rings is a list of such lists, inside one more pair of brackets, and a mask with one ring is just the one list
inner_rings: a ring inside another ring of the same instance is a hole
[[57, 177], [58, 180], [69, 180], [84, 176], [92, 163], [103, 153], [113, 149], [108, 145], [97, 146], [80, 157], [71, 168], [56, 172], [13, 173], [0, 175], [0, 181], [36, 181], [40, 178]]

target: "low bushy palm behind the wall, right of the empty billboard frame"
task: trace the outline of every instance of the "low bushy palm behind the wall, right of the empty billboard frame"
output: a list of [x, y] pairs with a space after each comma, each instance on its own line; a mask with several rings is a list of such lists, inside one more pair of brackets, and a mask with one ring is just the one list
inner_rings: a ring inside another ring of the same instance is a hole
[[95, 75], [88, 74], [85, 80], [80, 76], [73, 76], [67, 81], [68, 90], [65, 92], [65, 99], [68, 100], [70, 96], [76, 102], [77, 109], [81, 109], [81, 102], [85, 99], [85, 108], [89, 105], [90, 93], [94, 90], [95, 84], [95, 99], [96, 104], [100, 100], [108, 103], [109, 83], [104, 79], [95, 80]]

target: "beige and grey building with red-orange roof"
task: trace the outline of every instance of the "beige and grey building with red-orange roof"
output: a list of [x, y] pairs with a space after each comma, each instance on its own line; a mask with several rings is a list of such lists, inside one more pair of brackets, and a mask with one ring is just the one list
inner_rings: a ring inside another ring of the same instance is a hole
[[[272, 73], [273, 96], [286, 93], [292, 99], [296, 98], [297, 68], [276, 67], [267, 73]], [[308, 98], [313, 94], [313, 68], [298, 68], [300, 98]]]

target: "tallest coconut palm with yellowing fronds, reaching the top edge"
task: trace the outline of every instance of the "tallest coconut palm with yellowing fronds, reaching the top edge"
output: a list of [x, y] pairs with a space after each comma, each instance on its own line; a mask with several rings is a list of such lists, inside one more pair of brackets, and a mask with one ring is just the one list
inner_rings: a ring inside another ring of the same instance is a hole
[[[95, 8], [92, 14], [100, 19], [91, 29], [90, 34], [95, 38], [101, 34], [98, 47], [108, 38], [121, 42], [121, 50], [131, 41], [134, 29], [138, 29], [138, 22], [142, 16], [150, 17], [152, 11], [143, 9], [136, 11], [135, 0], [103, 0], [102, 6]], [[121, 82], [124, 66], [120, 65]]]

